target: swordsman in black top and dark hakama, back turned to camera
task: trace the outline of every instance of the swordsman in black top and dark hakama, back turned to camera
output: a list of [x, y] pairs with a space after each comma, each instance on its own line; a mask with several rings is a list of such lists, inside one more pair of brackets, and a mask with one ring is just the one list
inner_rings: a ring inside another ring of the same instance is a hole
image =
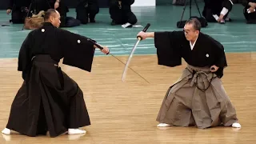
[[[88, 38], [58, 29], [60, 14], [47, 10], [46, 22], [31, 31], [22, 43], [18, 56], [18, 70], [24, 82], [14, 98], [10, 117], [3, 134], [11, 130], [28, 136], [46, 134], [56, 137], [68, 134], [84, 134], [79, 127], [90, 125], [82, 90], [58, 62], [91, 70], [94, 46]], [[102, 53], [108, 48], [103, 46]]]

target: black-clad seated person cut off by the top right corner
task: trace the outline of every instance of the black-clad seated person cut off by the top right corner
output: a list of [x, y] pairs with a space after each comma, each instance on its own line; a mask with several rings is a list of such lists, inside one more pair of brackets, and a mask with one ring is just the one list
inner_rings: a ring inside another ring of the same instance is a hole
[[245, 6], [243, 14], [245, 15], [247, 23], [256, 23], [256, 0], [246, 0], [242, 3]]

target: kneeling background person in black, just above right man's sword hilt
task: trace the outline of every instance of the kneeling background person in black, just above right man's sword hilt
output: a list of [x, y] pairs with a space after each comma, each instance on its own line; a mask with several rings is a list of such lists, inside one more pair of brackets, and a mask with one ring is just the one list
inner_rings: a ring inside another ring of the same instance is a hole
[[133, 3], [134, 0], [110, 0], [111, 25], [122, 25], [125, 23], [134, 25], [138, 20], [130, 9]]

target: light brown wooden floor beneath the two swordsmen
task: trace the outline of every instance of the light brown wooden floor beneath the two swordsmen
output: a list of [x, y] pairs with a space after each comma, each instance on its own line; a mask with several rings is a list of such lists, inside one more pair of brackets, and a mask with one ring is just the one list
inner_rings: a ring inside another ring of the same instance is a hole
[[[157, 65], [155, 55], [134, 56], [130, 66], [141, 74], [145, 82], [131, 70], [126, 82], [121, 81], [124, 66], [113, 57], [95, 57], [91, 73], [70, 66], [62, 70], [74, 78], [84, 92], [91, 126], [83, 127], [85, 135], [62, 135], [57, 138], [30, 138], [20, 134], [3, 135], [0, 143], [255, 143], [256, 142], [256, 53], [226, 54], [229, 66], [223, 85], [233, 102], [241, 129], [215, 127], [199, 130], [195, 127], [158, 129], [155, 121], [168, 87], [186, 66], [168, 68]], [[126, 62], [126, 57], [118, 57]], [[6, 126], [10, 105], [22, 84], [17, 71], [17, 59], [0, 60], [0, 129]]]

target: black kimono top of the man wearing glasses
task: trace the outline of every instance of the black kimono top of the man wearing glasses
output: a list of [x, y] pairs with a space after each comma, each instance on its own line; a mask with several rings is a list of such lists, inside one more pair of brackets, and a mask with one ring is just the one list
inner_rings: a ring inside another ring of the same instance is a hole
[[227, 66], [224, 47], [207, 34], [199, 33], [193, 50], [183, 31], [155, 32], [154, 44], [159, 65], [180, 66], [184, 58], [191, 66], [218, 66], [215, 72], [218, 78], [222, 78], [223, 69]]

